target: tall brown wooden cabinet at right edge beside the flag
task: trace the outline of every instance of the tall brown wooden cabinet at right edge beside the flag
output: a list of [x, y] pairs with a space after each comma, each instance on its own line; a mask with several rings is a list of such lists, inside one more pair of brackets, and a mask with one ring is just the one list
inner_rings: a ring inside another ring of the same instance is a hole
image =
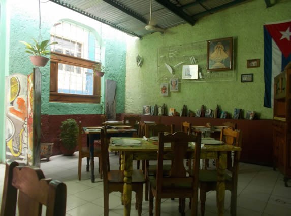
[[273, 160], [284, 174], [285, 186], [291, 178], [291, 69], [274, 78]]

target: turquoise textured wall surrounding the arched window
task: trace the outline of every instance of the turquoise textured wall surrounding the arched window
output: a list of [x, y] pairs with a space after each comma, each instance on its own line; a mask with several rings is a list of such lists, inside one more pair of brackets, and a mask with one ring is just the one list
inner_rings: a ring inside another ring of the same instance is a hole
[[[29, 2], [29, 5], [28, 5]], [[19, 40], [31, 42], [31, 38], [39, 38], [38, 1], [10, 0], [11, 25], [10, 25], [10, 73], [32, 72], [28, 54], [24, 53], [24, 46]], [[52, 16], [53, 12], [53, 16]], [[45, 1], [41, 4], [41, 36], [49, 38], [52, 25], [62, 19], [85, 23], [98, 31], [100, 23], [88, 17], [82, 16], [72, 10], [57, 4]], [[114, 32], [112, 32], [112, 30]], [[117, 81], [117, 113], [124, 112], [124, 85], [125, 85], [125, 59], [126, 40], [129, 36], [102, 24], [102, 63], [109, 68], [109, 72], [102, 78], [102, 96], [105, 91], [105, 79]], [[102, 104], [77, 104], [77, 103], [49, 103], [49, 64], [40, 68], [42, 73], [42, 114], [99, 114], [104, 112]], [[102, 97], [102, 102], [105, 98]]]

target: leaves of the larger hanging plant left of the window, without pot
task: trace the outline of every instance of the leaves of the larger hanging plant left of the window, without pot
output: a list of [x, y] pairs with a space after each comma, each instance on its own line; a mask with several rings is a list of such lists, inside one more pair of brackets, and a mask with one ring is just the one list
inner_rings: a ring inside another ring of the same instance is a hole
[[25, 41], [20, 41], [22, 44], [26, 45], [26, 53], [33, 54], [34, 56], [47, 56], [50, 54], [50, 49], [48, 47], [50, 45], [58, 44], [58, 42], [51, 42], [50, 40], [43, 40], [41, 42], [38, 42], [37, 40], [34, 40], [34, 44], [30, 44]]

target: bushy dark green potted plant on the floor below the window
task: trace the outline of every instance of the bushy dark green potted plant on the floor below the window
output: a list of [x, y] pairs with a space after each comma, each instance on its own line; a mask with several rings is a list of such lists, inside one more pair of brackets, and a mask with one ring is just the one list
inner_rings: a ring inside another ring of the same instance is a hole
[[72, 119], [68, 118], [61, 122], [60, 126], [60, 150], [65, 156], [74, 154], [78, 144], [78, 124]]

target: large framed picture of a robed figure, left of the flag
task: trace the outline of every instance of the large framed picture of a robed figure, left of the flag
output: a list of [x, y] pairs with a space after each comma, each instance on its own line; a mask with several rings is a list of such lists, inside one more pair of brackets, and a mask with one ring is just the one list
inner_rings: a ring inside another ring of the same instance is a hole
[[233, 68], [233, 38], [226, 37], [207, 41], [207, 71]]

